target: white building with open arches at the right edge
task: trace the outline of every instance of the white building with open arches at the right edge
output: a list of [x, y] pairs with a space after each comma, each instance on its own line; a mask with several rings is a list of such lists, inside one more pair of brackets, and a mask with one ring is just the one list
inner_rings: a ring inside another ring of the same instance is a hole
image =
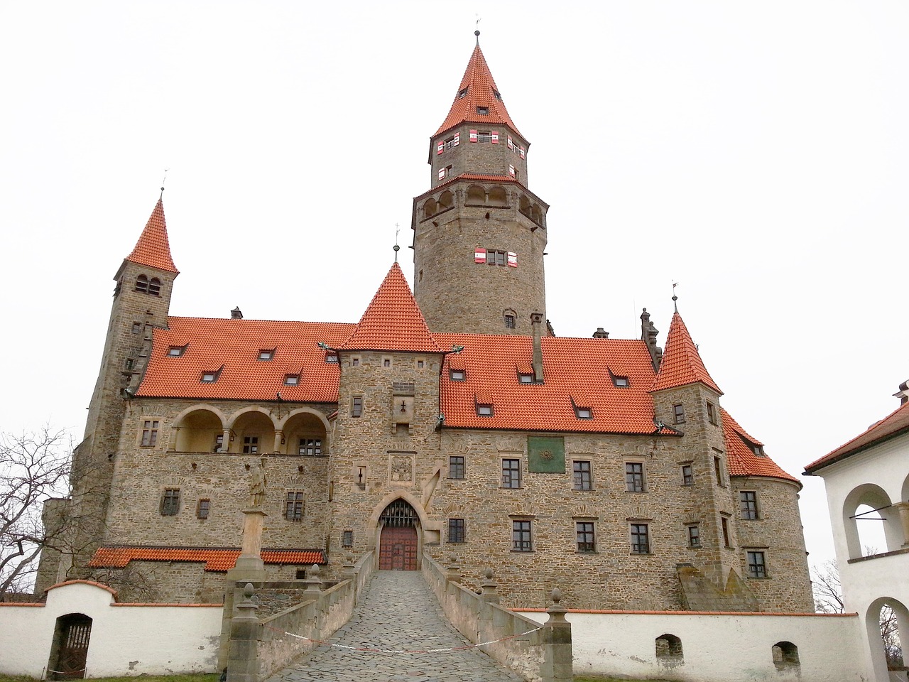
[[[805, 467], [821, 476], [834, 531], [836, 562], [843, 581], [846, 611], [864, 623], [868, 667], [874, 680], [905, 679], [905, 671], [887, 669], [879, 619], [883, 607], [896, 615], [904, 646], [909, 634], [909, 400], [901, 386], [902, 405], [844, 446]], [[879, 522], [885, 547], [863, 542], [860, 524]], [[898, 667], [891, 665], [891, 668]]]

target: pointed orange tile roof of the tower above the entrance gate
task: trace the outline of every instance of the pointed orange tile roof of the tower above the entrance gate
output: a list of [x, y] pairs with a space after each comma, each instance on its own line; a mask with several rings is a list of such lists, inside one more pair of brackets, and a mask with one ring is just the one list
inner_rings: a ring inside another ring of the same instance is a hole
[[354, 333], [339, 346], [343, 350], [412, 351], [441, 353], [416, 305], [401, 266], [395, 263], [385, 276]]

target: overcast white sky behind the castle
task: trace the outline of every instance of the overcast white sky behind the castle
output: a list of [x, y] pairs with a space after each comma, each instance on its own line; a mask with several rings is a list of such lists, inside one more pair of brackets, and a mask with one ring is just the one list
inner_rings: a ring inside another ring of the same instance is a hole
[[3, 0], [0, 428], [81, 438], [165, 168], [172, 314], [355, 322], [395, 224], [411, 242], [475, 13], [552, 206], [558, 335], [637, 337], [646, 306], [662, 344], [679, 282], [723, 405], [796, 475], [898, 405], [904, 2]]

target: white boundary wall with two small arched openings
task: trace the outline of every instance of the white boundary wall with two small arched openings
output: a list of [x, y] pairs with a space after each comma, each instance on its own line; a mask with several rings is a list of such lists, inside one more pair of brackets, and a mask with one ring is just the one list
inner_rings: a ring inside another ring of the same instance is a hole
[[[540, 611], [520, 611], [539, 623]], [[863, 682], [871, 664], [859, 618], [848, 615], [569, 611], [575, 675], [692, 682]], [[684, 661], [657, 659], [662, 635], [682, 640]], [[772, 647], [798, 647], [800, 667], [777, 670]]]

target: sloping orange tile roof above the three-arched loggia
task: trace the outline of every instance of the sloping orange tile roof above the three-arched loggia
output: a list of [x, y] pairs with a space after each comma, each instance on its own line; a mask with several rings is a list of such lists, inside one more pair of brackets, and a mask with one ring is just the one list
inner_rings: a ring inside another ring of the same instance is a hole
[[[200, 399], [283, 400], [336, 403], [337, 363], [325, 362], [328, 346], [344, 343], [354, 325], [277, 322], [233, 318], [170, 317], [167, 329], [155, 329], [152, 356], [137, 396]], [[172, 346], [186, 346], [182, 356], [168, 356]], [[271, 360], [259, 351], [275, 348]], [[205, 383], [204, 372], [221, 372]], [[293, 371], [288, 371], [293, 367]], [[285, 375], [300, 372], [300, 383], [286, 386]]]

